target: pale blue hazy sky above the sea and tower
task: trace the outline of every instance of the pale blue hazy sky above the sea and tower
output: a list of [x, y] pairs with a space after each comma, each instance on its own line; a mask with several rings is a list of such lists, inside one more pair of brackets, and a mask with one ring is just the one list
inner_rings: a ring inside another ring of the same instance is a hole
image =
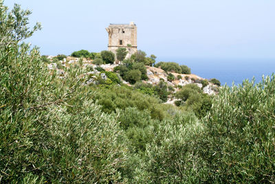
[[137, 48], [158, 58], [275, 58], [274, 0], [5, 0], [32, 10], [41, 54], [107, 49], [109, 23], [137, 25]]

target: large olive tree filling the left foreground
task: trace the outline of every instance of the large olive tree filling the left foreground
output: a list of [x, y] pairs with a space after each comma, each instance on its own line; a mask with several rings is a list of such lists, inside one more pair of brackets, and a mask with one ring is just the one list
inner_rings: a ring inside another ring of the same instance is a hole
[[[28, 14], [15, 8], [14, 25], [20, 27]], [[1, 20], [7, 15], [2, 13]], [[94, 91], [83, 85], [80, 65], [60, 80], [49, 74], [36, 47], [8, 47], [9, 52], [0, 47], [1, 183], [123, 182], [122, 130], [114, 115], [93, 103]]]

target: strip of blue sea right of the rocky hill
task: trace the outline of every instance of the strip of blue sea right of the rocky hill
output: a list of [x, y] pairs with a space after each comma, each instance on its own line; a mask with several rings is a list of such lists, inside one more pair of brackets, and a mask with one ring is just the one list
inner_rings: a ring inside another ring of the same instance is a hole
[[[161, 58], [164, 60], [163, 58]], [[191, 73], [202, 78], [217, 78], [222, 85], [225, 83], [231, 87], [241, 84], [243, 80], [262, 81], [262, 76], [271, 76], [275, 73], [275, 59], [195, 59], [195, 58], [170, 58], [165, 61], [173, 61], [179, 65], [187, 65]]]

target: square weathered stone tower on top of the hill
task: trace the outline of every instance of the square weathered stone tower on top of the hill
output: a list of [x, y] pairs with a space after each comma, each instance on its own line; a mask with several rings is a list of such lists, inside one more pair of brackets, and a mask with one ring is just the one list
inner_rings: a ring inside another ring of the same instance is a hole
[[135, 23], [110, 24], [106, 30], [109, 34], [109, 51], [115, 54], [116, 49], [124, 47], [128, 51], [126, 58], [130, 58], [137, 51], [137, 26]]

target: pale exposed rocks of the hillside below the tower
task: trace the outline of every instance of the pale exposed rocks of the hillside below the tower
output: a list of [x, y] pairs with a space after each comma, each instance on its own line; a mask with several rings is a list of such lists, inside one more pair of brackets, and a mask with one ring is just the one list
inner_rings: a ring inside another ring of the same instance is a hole
[[[63, 60], [53, 60], [54, 56], [47, 56], [48, 59], [50, 59], [50, 63], [47, 64], [48, 69], [50, 70], [56, 70], [58, 71], [58, 74], [60, 75], [60, 78], [63, 78], [65, 75], [65, 68], [72, 67], [74, 64], [80, 62], [80, 58], [75, 58], [72, 56], [67, 56], [67, 58], [64, 58]], [[96, 76], [101, 76], [101, 78], [106, 79], [104, 73], [100, 73], [96, 68], [101, 67], [105, 71], [113, 71], [115, 67], [118, 67], [118, 64], [107, 64], [107, 65], [94, 65], [93, 60], [87, 60], [85, 58], [82, 59], [83, 67], [91, 67], [92, 71], [87, 72], [86, 74], [89, 74], [93, 77], [91, 77], [87, 84], [91, 82], [95, 82]], [[206, 80], [205, 78], [201, 78], [195, 74], [181, 74], [181, 73], [174, 73], [174, 72], [166, 72], [160, 68], [156, 67], [149, 67], [146, 66], [146, 74], [148, 77], [148, 80], [142, 80], [142, 82], [146, 84], [152, 84], [157, 85], [159, 84], [160, 80], [164, 80], [164, 82], [167, 83], [168, 87], [173, 87], [175, 91], [173, 93], [179, 91], [181, 87], [184, 87], [186, 84], [196, 84], [198, 87], [200, 87], [203, 90], [203, 93], [208, 93], [209, 95], [216, 95], [219, 91], [219, 86], [211, 83], [210, 81]], [[169, 80], [168, 76], [170, 75], [173, 77], [173, 80]], [[122, 80], [122, 78], [120, 78]], [[129, 84], [129, 82], [126, 82], [122, 80], [123, 84]], [[168, 100], [168, 104], [172, 104], [176, 99], [173, 99], [173, 96], [170, 96], [170, 99]]]

